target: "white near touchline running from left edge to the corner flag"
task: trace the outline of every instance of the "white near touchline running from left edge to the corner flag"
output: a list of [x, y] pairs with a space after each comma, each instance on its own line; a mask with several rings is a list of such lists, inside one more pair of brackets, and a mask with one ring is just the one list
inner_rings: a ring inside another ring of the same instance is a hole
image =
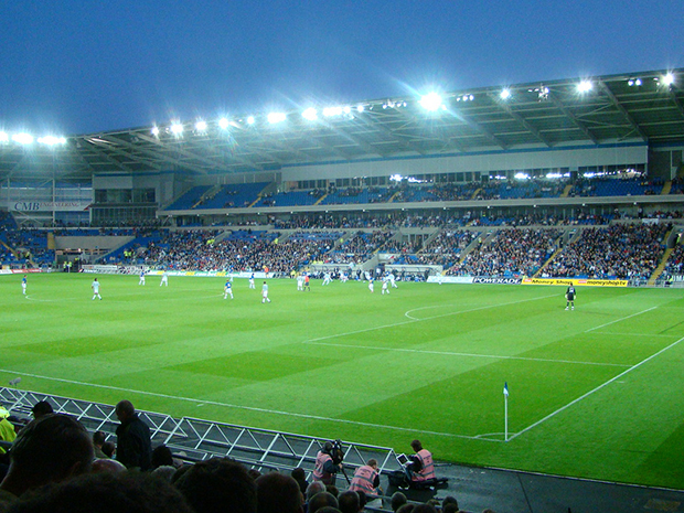
[[40, 374], [31, 374], [31, 373], [26, 373], [26, 372], [17, 372], [17, 371], [11, 371], [8, 368], [0, 368], [0, 372], [4, 372], [8, 374], [18, 374], [20, 376], [24, 376], [24, 377], [35, 377], [39, 380], [46, 380], [46, 381], [54, 381], [54, 382], [60, 382], [60, 383], [68, 383], [71, 385], [79, 385], [79, 386], [86, 386], [86, 387], [94, 387], [94, 388], [105, 388], [105, 389], [109, 389], [109, 391], [117, 391], [117, 392], [125, 392], [127, 394], [139, 394], [139, 395], [147, 395], [147, 396], [151, 396], [151, 397], [161, 397], [164, 399], [173, 399], [173, 400], [182, 400], [185, 403], [194, 403], [197, 406], [202, 405], [213, 405], [213, 406], [222, 406], [222, 407], [226, 407], [226, 408], [235, 408], [235, 409], [244, 409], [247, 412], [258, 412], [258, 413], [265, 413], [265, 414], [272, 414], [272, 415], [281, 415], [281, 416], [286, 416], [286, 417], [297, 417], [297, 418], [306, 418], [309, 420], [323, 420], [327, 423], [338, 423], [338, 424], [348, 424], [351, 426], [363, 426], [363, 427], [372, 427], [372, 428], [377, 428], [377, 429], [387, 429], [391, 431], [404, 431], [404, 432], [416, 432], [416, 431], [420, 431], [420, 432], [425, 432], [428, 435], [435, 435], [435, 436], [440, 436], [440, 437], [449, 437], [449, 438], [463, 438], [463, 439], [468, 439], [468, 440], [483, 440], [483, 441], [498, 441], [498, 442], [502, 442], [503, 440], [492, 440], [492, 439], [487, 439], [487, 438], [479, 438], [478, 436], [471, 437], [468, 435], [457, 435], [453, 432], [441, 432], [441, 431], [430, 431], [430, 430], [425, 430], [425, 429], [419, 429], [419, 428], [405, 428], [405, 427], [400, 427], [400, 426], [386, 426], [383, 424], [374, 424], [374, 423], [362, 423], [360, 420], [346, 420], [343, 418], [333, 418], [333, 417], [323, 417], [321, 415], [307, 415], [307, 414], [298, 414], [298, 413], [293, 413], [293, 412], [281, 412], [278, 409], [268, 409], [268, 408], [258, 408], [256, 406], [244, 406], [244, 405], [235, 405], [235, 404], [231, 404], [231, 403], [221, 403], [217, 400], [206, 400], [206, 399], [195, 399], [192, 397], [181, 397], [178, 395], [170, 395], [170, 394], [160, 394], [158, 392], [147, 392], [147, 391], [136, 391], [132, 388], [124, 388], [120, 386], [114, 386], [114, 385], [100, 385], [100, 384], [96, 384], [96, 383], [86, 383], [86, 382], [79, 382], [79, 381], [75, 381], [75, 380], [64, 380], [62, 377], [51, 377], [51, 376], [43, 376]]

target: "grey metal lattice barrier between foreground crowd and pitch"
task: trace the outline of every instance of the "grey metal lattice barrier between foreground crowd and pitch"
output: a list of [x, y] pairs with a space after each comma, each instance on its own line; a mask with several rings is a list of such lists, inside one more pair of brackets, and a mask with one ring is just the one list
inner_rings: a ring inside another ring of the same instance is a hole
[[[40, 400], [47, 400], [55, 413], [74, 416], [88, 431], [104, 431], [108, 439], [115, 436], [119, 425], [111, 405], [0, 387], [0, 405], [20, 419], [30, 420], [31, 408]], [[318, 451], [335, 438], [334, 434], [331, 438], [308, 437], [191, 417], [173, 418], [152, 412], [137, 413], [150, 427], [152, 446], [164, 443], [175, 457], [185, 461], [228, 457], [259, 471], [289, 472], [301, 467], [307, 471], [307, 479], [311, 479]], [[389, 474], [402, 469], [392, 448], [343, 441], [342, 449], [349, 479], [371, 458], [377, 460], [382, 473]]]

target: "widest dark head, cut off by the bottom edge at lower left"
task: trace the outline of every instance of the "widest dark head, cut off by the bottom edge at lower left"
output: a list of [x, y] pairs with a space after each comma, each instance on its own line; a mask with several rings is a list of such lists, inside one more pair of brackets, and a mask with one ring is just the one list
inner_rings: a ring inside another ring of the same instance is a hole
[[90, 473], [43, 487], [28, 492], [9, 512], [194, 513], [171, 484], [141, 472]]

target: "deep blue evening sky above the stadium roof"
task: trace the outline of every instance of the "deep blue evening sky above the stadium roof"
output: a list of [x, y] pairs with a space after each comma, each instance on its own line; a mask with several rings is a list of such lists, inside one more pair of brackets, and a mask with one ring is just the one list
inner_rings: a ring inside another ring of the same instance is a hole
[[684, 67], [682, 0], [4, 2], [0, 130], [77, 135]]

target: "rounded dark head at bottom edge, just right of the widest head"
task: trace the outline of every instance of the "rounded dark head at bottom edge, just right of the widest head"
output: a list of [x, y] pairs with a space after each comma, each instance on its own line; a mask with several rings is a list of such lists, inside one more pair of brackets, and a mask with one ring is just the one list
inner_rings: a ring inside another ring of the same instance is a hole
[[212, 458], [188, 467], [174, 484], [195, 513], [256, 513], [257, 488], [244, 464]]

